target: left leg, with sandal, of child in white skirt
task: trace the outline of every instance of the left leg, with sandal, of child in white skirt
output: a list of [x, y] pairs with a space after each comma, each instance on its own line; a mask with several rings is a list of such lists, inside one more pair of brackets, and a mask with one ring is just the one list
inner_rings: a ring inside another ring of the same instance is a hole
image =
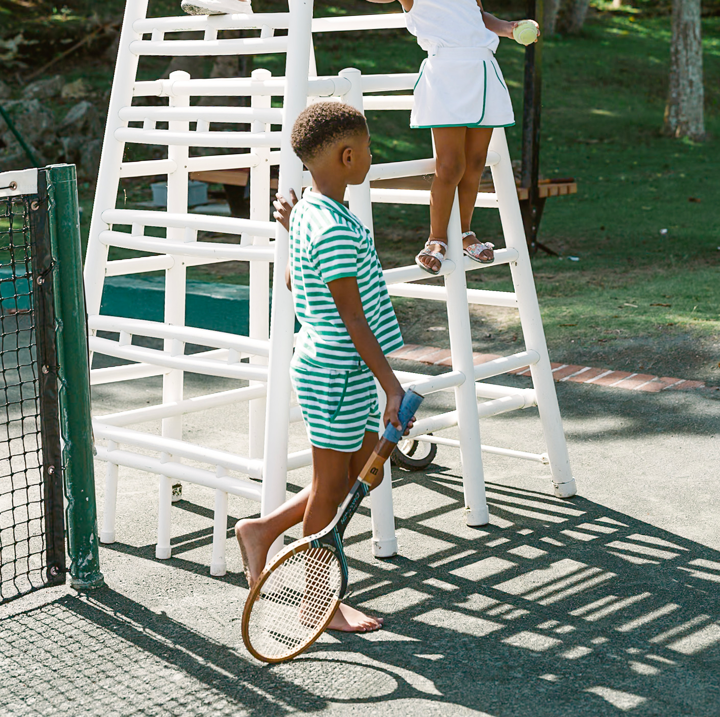
[[[467, 127], [433, 127], [435, 141], [435, 176], [430, 188], [430, 236], [446, 241], [448, 222], [455, 189], [465, 172], [465, 133]], [[444, 252], [438, 244], [431, 251]], [[439, 261], [432, 256], [421, 256], [428, 269], [436, 270]]]

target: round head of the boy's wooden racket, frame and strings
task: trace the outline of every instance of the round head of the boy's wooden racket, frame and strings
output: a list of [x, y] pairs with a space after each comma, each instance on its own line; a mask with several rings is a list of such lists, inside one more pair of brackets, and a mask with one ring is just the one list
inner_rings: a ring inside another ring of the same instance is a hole
[[261, 662], [284, 662], [312, 645], [330, 624], [347, 585], [331, 543], [305, 538], [266, 566], [243, 610], [243, 642]]

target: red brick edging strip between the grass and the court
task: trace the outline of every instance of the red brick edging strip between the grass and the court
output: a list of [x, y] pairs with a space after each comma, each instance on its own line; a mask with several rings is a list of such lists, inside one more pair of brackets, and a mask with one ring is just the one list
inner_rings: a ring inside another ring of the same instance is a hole
[[[399, 358], [402, 361], [418, 361], [420, 364], [431, 366], [452, 366], [450, 351], [447, 348], [436, 346], [418, 346], [408, 343], [397, 351], [390, 353], [389, 358]], [[500, 358], [496, 353], [473, 353], [474, 364], [485, 364]], [[576, 364], [550, 364], [552, 377], [556, 382], [572, 381], [579, 384], [593, 384], [611, 388], [627, 389], [629, 391], [647, 391], [658, 393], [660, 391], [690, 391], [694, 389], [708, 389], [720, 391], [720, 387], [706, 386], [702, 381], [688, 381], [675, 379], [672, 376], [654, 376], [653, 374], [631, 373], [630, 371], [613, 371], [613, 369], [600, 369], [595, 366], [580, 366]], [[529, 376], [530, 369], [516, 369], [508, 371], [518, 376]]]

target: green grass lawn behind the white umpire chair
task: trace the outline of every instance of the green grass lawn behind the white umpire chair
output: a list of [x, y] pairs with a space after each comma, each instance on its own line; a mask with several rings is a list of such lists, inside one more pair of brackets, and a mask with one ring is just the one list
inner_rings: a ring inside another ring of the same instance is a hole
[[[174, 13], [178, 4], [153, 0], [150, 10]], [[271, 10], [287, 4], [257, 0], [256, 6]], [[517, 12], [513, 7], [504, 4], [506, 14], [498, 14], [522, 17], [521, 6]], [[316, 14], [397, 9], [359, 0], [316, 3]], [[575, 177], [578, 193], [546, 204], [540, 240], [561, 257], [539, 253], [533, 258], [537, 290], [553, 358], [718, 384], [720, 17], [703, 19], [708, 140], [692, 143], [660, 132], [670, 18], [648, 9], [649, 3], [643, 4], [643, 12], [630, 7], [621, 12], [591, 9], [582, 35], [545, 39], [541, 173]], [[348, 66], [364, 73], [416, 71], [423, 58], [415, 39], [404, 30], [318, 35], [315, 47], [320, 73], [337, 73]], [[501, 40], [497, 54], [519, 122], [523, 48]], [[155, 78], [167, 61], [143, 58], [141, 68], [148, 78]], [[209, 63], [204, 60], [203, 71], [209, 70]], [[282, 74], [283, 63], [282, 57], [267, 56], [258, 58], [256, 66]], [[99, 89], [107, 89], [112, 80], [107, 62], [90, 68], [87, 59], [76, 65], [68, 60], [51, 72], [56, 71], [68, 80], [89, 77]], [[410, 130], [407, 112], [373, 112], [368, 120], [375, 161], [430, 155], [429, 131]], [[519, 158], [519, 124], [508, 130], [508, 140], [513, 157]], [[150, 198], [148, 184], [126, 184], [129, 204]], [[86, 231], [92, 202], [89, 186], [81, 188], [81, 201]], [[503, 245], [495, 212], [478, 209], [474, 227], [480, 236]], [[428, 211], [377, 205], [375, 230], [385, 266], [410, 263], [427, 237]], [[238, 265], [197, 267], [189, 276], [247, 281], [246, 267]], [[468, 279], [471, 286], [510, 288], [505, 269], [476, 271]], [[404, 299], [398, 299], [396, 307], [406, 341], [446, 343], [446, 333], [440, 330], [446, 325], [444, 307]], [[516, 312], [479, 308], [473, 322], [478, 349], [501, 353], [516, 350], [521, 341]]]

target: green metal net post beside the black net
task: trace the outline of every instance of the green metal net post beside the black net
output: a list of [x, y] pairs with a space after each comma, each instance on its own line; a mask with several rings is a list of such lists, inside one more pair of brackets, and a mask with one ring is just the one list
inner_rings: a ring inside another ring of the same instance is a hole
[[101, 587], [90, 414], [85, 297], [75, 166], [45, 168], [53, 203], [51, 238], [57, 269], [53, 272], [58, 317], [60, 420], [63, 425], [63, 473], [68, 500], [68, 551], [71, 585]]

